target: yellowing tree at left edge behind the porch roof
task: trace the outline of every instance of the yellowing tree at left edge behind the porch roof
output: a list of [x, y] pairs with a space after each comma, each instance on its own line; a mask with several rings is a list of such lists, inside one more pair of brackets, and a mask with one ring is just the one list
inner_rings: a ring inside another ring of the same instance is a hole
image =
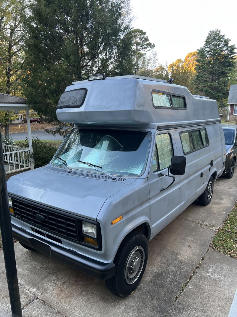
[[[20, 95], [19, 82], [23, 64], [22, 20], [27, 10], [27, 0], [2, 0], [0, 2], [0, 92]], [[11, 114], [4, 112], [5, 137], [9, 139]]]

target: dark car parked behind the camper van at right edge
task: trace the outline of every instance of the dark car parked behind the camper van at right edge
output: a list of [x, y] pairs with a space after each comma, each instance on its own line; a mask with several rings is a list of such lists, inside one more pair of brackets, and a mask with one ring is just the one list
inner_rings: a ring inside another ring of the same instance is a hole
[[232, 178], [237, 156], [237, 125], [223, 125], [222, 128], [226, 143], [226, 162], [223, 175]]

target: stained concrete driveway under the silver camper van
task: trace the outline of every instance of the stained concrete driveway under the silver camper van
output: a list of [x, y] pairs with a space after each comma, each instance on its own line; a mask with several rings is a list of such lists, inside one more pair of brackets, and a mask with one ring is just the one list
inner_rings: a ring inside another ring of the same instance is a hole
[[[104, 281], [84, 275], [39, 252], [28, 251], [16, 243], [23, 316], [164, 317], [169, 312], [168, 316], [194, 316], [176, 314], [178, 305], [174, 301], [183, 283], [189, 280], [205, 256], [216, 229], [234, 205], [236, 185], [237, 171], [232, 179], [220, 178], [215, 182], [211, 204], [202, 207], [194, 202], [149, 242], [145, 274], [138, 288], [127, 298], [112, 295]], [[231, 275], [229, 277], [232, 278]], [[224, 311], [220, 316], [228, 315], [234, 297], [233, 289], [229, 289], [227, 299], [224, 297]], [[197, 291], [195, 296], [199, 295]], [[221, 294], [219, 296], [218, 301], [222, 301]], [[205, 297], [203, 301], [206, 301]], [[211, 308], [210, 301], [203, 304], [209, 306], [210, 311], [207, 314], [197, 313], [197, 316], [217, 316], [216, 308]], [[1, 316], [11, 315], [3, 251], [0, 251], [0, 311]]]

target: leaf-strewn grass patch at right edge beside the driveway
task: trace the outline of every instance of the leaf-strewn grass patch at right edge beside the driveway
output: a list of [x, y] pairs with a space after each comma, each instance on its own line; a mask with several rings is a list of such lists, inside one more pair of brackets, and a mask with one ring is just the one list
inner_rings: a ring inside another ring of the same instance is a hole
[[222, 227], [217, 230], [211, 247], [237, 259], [237, 202]]

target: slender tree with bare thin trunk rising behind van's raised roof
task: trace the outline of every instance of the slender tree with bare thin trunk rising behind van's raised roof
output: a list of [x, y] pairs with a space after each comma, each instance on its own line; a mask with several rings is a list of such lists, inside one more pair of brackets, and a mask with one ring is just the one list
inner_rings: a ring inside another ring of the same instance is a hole
[[139, 75], [139, 64], [143, 57], [151, 49], [154, 49], [155, 44], [149, 42], [149, 38], [145, 31], [141, 29], [132, 29], [133, 54], [136, 63], [136, 74]]

